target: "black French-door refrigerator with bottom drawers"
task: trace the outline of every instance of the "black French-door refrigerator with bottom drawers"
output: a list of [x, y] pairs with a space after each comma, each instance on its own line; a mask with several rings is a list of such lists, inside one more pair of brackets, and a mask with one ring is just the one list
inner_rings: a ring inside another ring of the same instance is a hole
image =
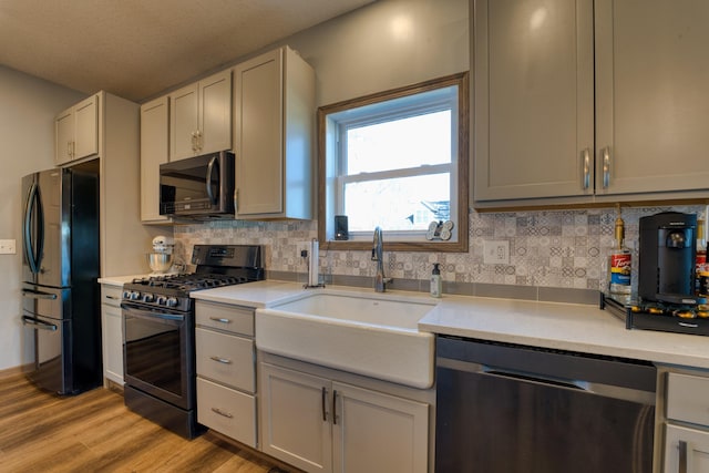
[[100, 385], [97, 171], [22, 178], [22, 323], [35, 354], [29, 379], [58, 394]]

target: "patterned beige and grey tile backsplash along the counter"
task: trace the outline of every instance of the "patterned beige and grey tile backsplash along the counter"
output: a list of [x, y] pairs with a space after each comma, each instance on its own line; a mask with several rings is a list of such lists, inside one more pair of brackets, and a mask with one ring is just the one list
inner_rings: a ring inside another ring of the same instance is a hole
[[[626, 245], [636, 249], [638, 220], [645, 215], [676, 210], [703, 214], [703, 205], [623, 207]], [[615, 207], [470, 215], [470, 249], [465, 254], [384, 251], [387, 276], [428, 285], [433, 263], [441, 263], [443, 281], [537, 288], [598, 290], [606, 285], [605, 258], [614, 241]], [[307, 280], [307, 261], [299, 244], [317, 236], [317, 222], [226, 220], [175, 226], [177, 255], [188, 261], [195, 244], [251, 244], [265, 248], [271, 275]], [[386, 235], [384, 235], [386, 240]], [[510, 245], [510, 264], [483, 263], [485, 240]], [[373, 277], [370, 251], [329, 250], [320, 245], [320, 274], [325, 277]], [[633, 260], [637, 285], [637, 255]], [[428, 286], [425, 286], [428, 288]]]

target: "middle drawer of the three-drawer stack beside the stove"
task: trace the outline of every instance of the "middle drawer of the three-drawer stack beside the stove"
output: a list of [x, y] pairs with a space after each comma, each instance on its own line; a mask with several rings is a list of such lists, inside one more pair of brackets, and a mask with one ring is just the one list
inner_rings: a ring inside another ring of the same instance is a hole
[[196, 329], [197, 374], [254, 392], [254, 340]]

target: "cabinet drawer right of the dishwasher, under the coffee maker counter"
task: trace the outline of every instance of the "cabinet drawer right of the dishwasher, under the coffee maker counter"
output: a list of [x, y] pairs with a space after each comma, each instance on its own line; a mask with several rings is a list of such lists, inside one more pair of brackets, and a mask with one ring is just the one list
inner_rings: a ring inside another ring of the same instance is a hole
[[709, 425], [709, 378], [668, 373], [667, 418]]

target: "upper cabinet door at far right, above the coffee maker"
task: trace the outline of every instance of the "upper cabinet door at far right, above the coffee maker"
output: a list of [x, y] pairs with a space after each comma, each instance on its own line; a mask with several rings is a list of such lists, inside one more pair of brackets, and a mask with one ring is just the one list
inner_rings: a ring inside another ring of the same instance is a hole
[[705, 0], [596, 1], [598, 194], [709, 187], [707, 18]]

